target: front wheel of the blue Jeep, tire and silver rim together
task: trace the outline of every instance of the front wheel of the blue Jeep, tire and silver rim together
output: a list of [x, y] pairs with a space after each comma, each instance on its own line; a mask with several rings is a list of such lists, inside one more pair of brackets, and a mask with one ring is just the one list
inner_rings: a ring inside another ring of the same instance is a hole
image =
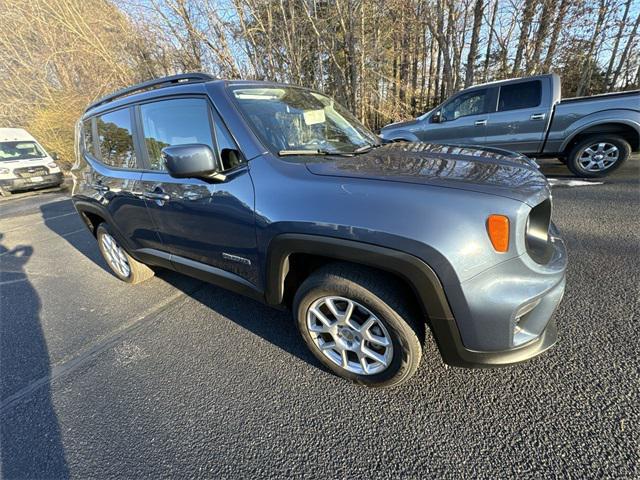
[[393, 279], [333, 264], [309, 276], [293, 307], [315, 357], [337, 375], [370, 387], [409, 379], [422, 356], [422, 329]]

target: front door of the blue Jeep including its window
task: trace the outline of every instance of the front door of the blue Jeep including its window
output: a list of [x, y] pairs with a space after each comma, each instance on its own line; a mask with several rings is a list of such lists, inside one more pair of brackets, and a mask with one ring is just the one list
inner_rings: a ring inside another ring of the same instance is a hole
[[[147, 208], [172, 255], [211, 265], [257, 283], [253, 183], [233, 138], [204, 96], [156, 100], [137, 107], [147, 169], [142, 175]], [[223, 182], [177, 179], [165, 170], [165, 146], [211, 147], [226, 176]]]

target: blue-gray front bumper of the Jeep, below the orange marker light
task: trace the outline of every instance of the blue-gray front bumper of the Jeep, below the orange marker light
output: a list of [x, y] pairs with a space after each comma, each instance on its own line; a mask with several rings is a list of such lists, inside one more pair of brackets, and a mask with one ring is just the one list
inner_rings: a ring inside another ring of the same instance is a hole
[[446, 363], [508, 365], [555, 344], [553, 314], [564, 294], [567, 254], [557, 235], [552, 241], [547, 264], [537, 264], [526, 254], [512, 258], [463, 282], [457, 295], [448, 295], [455, 320], [439, 322]]

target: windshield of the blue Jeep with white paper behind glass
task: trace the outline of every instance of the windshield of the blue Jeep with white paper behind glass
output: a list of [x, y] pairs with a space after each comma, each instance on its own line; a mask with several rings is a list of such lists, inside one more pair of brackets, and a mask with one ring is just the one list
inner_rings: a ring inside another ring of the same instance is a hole
[[320, 93], [295, 87], [232, 91], [253, 131], [273, 151], [352, 153], [378, 144], [344, 107]]

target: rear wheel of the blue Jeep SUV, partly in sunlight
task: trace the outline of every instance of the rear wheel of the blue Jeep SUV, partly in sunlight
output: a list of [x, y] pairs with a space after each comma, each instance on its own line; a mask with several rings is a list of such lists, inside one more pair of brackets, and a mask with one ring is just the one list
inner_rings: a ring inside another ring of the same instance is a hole
[[138, 262], [122, 248], [109, 230], [106, 223], [101, 223], [96, 230], [98, 248], [107, 265], [123, 282], [136, 284], [153, 277], [155, 272], [144, 263]]

